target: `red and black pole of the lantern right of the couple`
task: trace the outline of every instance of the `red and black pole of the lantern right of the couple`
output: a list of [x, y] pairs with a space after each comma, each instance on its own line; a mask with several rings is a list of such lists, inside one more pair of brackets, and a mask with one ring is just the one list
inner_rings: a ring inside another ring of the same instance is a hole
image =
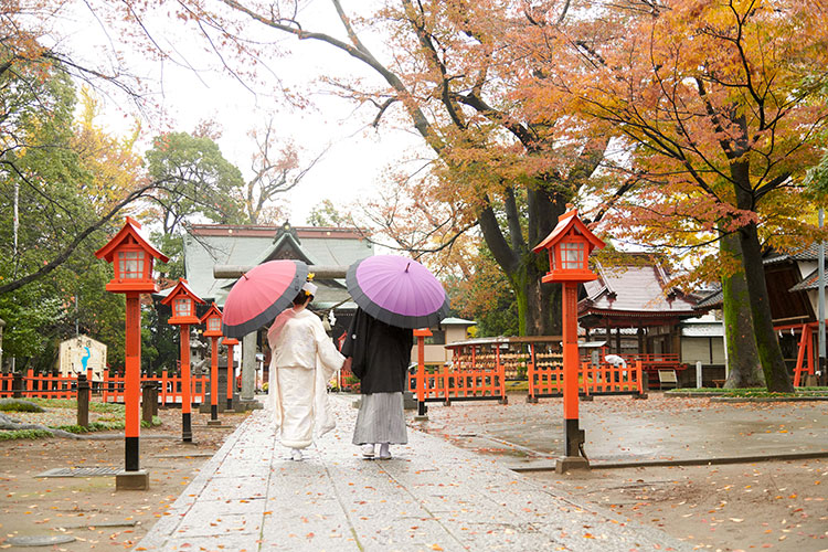
[[578, 456], [584, 435], [578, 427], [577, 282], [563, 283], [563, 420], [566, 456]]

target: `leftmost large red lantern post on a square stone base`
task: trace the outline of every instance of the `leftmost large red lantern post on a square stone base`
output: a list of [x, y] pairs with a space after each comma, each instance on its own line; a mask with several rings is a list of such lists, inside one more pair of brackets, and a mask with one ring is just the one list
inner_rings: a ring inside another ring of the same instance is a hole
[[106, 290], [125, 294], [126, 359], [125, 389], [126, 431], [125, 471], [116, 476], [116, 489], [147, 489], [149, 475], [139, 469], [140, 457], [140, 380], [141, 380], [141, 309], [140, 295], [158, 291], [152, 278], [152, 261], [166, 263], [167, 255], [156, 250], [139, 233], [141, 225], [127, 216], [124, 227], [95, 256], [112, 263], [115, 276]]

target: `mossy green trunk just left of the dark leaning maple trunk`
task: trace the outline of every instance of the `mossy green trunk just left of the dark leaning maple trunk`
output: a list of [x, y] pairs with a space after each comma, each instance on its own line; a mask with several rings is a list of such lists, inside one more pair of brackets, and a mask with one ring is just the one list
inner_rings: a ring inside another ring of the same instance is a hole
[[[735, 234], [722, 237], [719, 248], [724, 256], [742, 258], [739, 236]], [[758, 362], [744, 270], [722, 278], [722, 312], [730, 368], [725, 389], [763, 388], [765, 376]]]

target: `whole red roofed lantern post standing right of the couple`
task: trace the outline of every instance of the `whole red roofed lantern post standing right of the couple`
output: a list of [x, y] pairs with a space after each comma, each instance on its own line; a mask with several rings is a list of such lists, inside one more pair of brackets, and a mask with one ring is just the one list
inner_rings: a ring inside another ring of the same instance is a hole
[[590, 253], [604, 247], [597, 236], [572, 210], [558, 219], [558, 225], [534, 250], [549, 252], [549, 273], [542, 282], [563, 284], [563, 418], [564, 454], [556, 469], [588, 468], [583, 455], [584, 432], [578, 427], [578, 352], [577, 352], [577, 289], [578, 285], [597, 276], [590, 270]]

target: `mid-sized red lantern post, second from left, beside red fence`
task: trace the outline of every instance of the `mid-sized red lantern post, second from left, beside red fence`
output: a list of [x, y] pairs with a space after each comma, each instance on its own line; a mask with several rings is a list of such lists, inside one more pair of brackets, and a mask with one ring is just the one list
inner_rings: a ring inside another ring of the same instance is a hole
[[178, 326], [181, 342], [181, 440], [192, 443], [192, 386], [190, 384], [190, 326], [200, 323], [195, 316], [195, 304], [203, 305], [204, 300], [195, 295], [187, 280], [179, 278], [176, 287], [162, 305], [170, 305], [172, 316], [167, 323]]

